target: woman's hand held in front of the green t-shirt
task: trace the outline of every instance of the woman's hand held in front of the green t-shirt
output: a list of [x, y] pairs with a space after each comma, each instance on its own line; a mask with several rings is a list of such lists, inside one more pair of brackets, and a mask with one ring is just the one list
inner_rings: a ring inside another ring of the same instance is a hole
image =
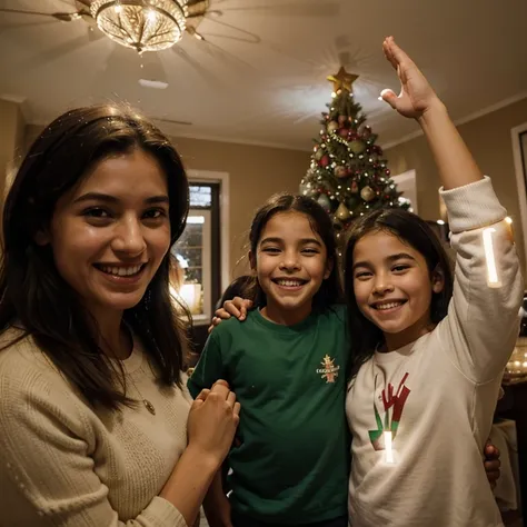
[[229, 453], [239, 422], [240, 404], [225, 380], [202, 390], [187, 421], [189, 449], [209, 456], [219, 467]]

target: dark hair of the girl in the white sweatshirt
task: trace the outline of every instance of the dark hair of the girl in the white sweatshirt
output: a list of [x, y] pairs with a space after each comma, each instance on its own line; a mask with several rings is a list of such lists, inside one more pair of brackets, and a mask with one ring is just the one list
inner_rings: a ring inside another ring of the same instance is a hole
[[345, 295], [348, 307], [348, 329], [350, 334], [351, 362], [350, 376], [368, 360], [375, 349], [384, 344], [382, 331], [368, 320], [357, 306], [354, 288], [354, 250], [357, 242], [370, 232], [386, 231], [397, 236], [405, 243], [419, 251], [427, 262], [428, 272], [440, 270], [445, 285], [440, 292], [432, 292], [430, 321], [438, 324], [448, 311], [453, 296], [454, 277], [448, 255], [430, 226], [412, 212], [401, 209], [378, 209], [354, 222], [345, 252]]

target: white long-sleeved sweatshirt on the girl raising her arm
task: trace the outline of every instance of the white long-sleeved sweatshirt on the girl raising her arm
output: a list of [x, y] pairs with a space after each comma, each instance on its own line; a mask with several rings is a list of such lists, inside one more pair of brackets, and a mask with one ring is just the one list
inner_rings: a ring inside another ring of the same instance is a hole
[[[481, 453], [518, 335], [524, 281], [490, 180], [441, 195], [456, 251], [448, 316], [415, 342], [376, 352], [350, 382], [352, 527], [503, 525]], [[497, 288], [487, 284], [488, 226]], [[392, 463], [384, 430], [391, 431]]]

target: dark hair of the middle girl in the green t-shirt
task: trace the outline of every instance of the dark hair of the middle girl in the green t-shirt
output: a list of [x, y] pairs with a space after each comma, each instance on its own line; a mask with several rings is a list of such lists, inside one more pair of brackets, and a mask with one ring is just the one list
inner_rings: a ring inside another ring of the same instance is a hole
[[[338, 270], [337, 241], [335, 239], [331, 219], [326, 210], [311, 198], [299, 195], [277, 193], [271, 196], [268, 201], [258, 209], [249, 231], [249, 247], [255, 262], [258, 241], [268, 221], [279, 212], [291, 211], [300, 212], [308, 218], [312, 230], [320, 236], [326, 246], [328, 261], [332, 264], [329, 277], [322, 281], [320, 289], [312, 299], [314, 309], [324, 310], [335, 304], [341, 304], [344, 301], [342, 285]], [[255, 307], [266, 305], [266, 295], [256, 277], [253, 277], [253, 285], [247, 284], [245, 287], [247, 291], [251, 291], [252, 298], [250, 298], [250, 300], [253, 300]]]

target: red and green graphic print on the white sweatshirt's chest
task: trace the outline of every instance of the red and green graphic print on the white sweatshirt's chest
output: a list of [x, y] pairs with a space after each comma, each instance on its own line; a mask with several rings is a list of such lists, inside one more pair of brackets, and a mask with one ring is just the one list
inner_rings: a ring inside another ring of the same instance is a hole
[[[384, 419], [380, 417], [380, 412], [377, 409], [376, 405], [376, 392], [377, 392], [377, 377], [375, 376], [375, 388], [374, 388], [374, 412], [375, 421], [377, 424], [376, 430], [369, 430], [369, 439], [375, 450], [384, 450], [384, 432], [391, 431], [391, 439], [394, 440], [397, 435], [397, 429], [399, 428], [399, 421], [402, 416], [402, 410], [405, 408], [406, 400], [410, 395], [410, 389], [406, 386], [406, 380], [408, 379], [408, 372], [406, 372], [399, 382], [397, 391], [394, 394], [394, 386], [388, 382], [388, 386], [382, 390], [382, 411]], [[384, 421], [384, 422], [382, 422]]]

